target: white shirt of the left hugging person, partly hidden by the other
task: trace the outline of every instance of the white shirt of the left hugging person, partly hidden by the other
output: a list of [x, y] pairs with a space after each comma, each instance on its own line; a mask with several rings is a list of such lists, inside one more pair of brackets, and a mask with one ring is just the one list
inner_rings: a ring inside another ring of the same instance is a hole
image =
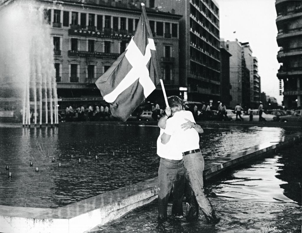
[[160, 133], [157, 139], [157, 155], [161, 158], [167, 158], [171, 160], [181, 160], [182, 159], [182, 152], [176, 150], [175, 146], [172, 145], [170, 142], [167, 144], [162, 144], [162, 140], [160, 137], [164, 133], [164, 129], [160, 128]]

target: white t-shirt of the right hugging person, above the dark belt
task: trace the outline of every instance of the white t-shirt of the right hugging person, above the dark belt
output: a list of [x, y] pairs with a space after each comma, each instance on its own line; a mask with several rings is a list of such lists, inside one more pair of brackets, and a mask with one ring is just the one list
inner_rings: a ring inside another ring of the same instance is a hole
[[184, 131], [181, 124], [187, 123], [188, 119], [195, 122], [193, 114], [190, 111], [179, 111], [169, 118], [166, 122], [164, 132], [171, 135], [169, 140], [170, 145], [179, 152], [186, 152], [189, 150], [199, 149], [199, 135], [194, 129], [187, 129]]

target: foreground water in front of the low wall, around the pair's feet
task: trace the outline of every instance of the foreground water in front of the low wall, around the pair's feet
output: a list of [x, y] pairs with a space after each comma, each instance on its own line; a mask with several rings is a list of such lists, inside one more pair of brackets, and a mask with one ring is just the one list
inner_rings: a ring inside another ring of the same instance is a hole
[[[300, 232], [301, 188], [299, 191], [296, 188], [297, 181], [301, 180], [302, 144], [277, 152], [270, 158], [255, 161], [253, 165], [245, 165], [205, 184], [207, 195], [221, 216], [217, 225], [207, 224], [202, 215], [195, 222], [173, 217], [164, 222], [158, 221], [155, 200], [96, 227], [91, 233]], [[293, 190], [297, 192], [291, 192]], [[171, 210], [172, 203], [168, 206], [168, 213]]]

